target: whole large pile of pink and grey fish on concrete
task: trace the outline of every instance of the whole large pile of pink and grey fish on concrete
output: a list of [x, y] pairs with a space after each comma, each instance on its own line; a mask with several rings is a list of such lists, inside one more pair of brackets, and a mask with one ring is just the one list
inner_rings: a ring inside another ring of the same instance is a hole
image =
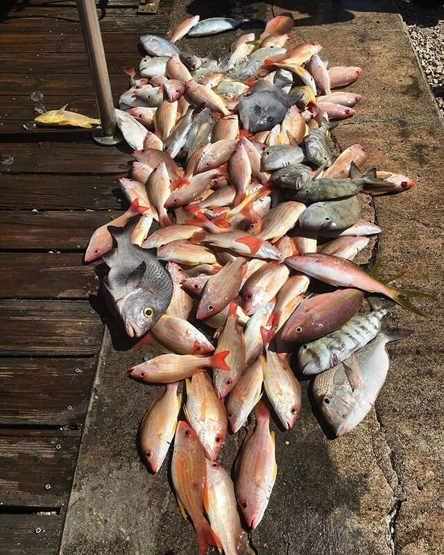
[[[384, 384], [386, 343], [410, 334], [388, 329], [384, 316], [396, 303], [422, 314], [411, 298], [423, 293], [353, 262], [381, 231], [361, 218], [361, 194], [413, 185], [363, 171], [359, 144], [336, 158], [330, 151], [334, 122], [352, 117], [362, 98], [343, 89], [361, 69], [327, 69], [317, 42], [284, 48], [289, 14], [259, 37], [239, 36], [219, 60], [176, 46], [186, 34], [242, 22], [196, 16], [169, 40], [141, 37], [148, 56], [139, 74], [126, 70], [131, 87], [117, 110], [135, 148], [131, 178], [120, 180], [131, 206], [94, 233], [86, 253], [108, 264], [105, 292], [128, 336], [151, 330], [169, 351], [129, 370], [166, 384], [139, 441], [152, 472], [174, 442], [173, 486], [200, 554], [210, 545], [248, 552], [238, 509], [253, 529], [264, 515], [277, 475], [270, 415], [295, 425], [295, 373], [314, 376], [314, 400], [334, 433], [350, 432]], [[160, 228], [151, 232], [153, 221]], [[361, 309], [365, 296], [370, 311]], [[289, 363], [295, 351], [299, 368]], [[253, 411], [233, 484], [216, 459], [228, 428], [239, 432]]]

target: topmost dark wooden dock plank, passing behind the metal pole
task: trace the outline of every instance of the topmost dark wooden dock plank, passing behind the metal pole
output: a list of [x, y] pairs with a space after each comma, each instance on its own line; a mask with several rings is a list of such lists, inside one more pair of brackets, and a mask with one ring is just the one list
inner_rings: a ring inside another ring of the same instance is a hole
[[[97, 10], [100, 28], [103, 33], [130, 33], [137, 37], [146, 33], [167, 33], [169, 15], [157, 13], [155, 17], [135, 17], [135, 10], [128, 8], [108, 8]], [[81, 33], [77, 9], [57, 6], [33, 8], [20, 6], [19, 10], [10, 10], [2, 28], [7, 33]]]

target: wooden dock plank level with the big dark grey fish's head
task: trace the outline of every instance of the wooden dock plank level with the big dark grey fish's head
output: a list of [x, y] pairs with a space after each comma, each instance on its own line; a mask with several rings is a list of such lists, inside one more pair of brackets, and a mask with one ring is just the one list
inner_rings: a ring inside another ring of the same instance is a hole
[[86, 300], [0, 300], [0, 330], [0, 355], [91, 356], [103, 325]]

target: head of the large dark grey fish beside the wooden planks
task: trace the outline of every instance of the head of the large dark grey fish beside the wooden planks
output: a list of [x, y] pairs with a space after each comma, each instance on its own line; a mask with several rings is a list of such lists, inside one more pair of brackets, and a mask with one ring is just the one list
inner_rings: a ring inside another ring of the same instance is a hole
[[136, 289], [117, 304], [129, 337], [142, 337], [167, 310], [171, 299]]

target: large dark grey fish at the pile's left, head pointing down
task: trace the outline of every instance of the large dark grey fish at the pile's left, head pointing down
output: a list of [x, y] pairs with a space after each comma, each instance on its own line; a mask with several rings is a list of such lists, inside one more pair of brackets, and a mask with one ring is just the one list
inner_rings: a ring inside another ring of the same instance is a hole
[[173, 295], [171, 275], [148, 250], [133, 245], [131, 233], [138, 218], [123, 228], [108, 226], [117, 243], [103, 260], [110, 267], [103, 282], [130, 337], [140, 337], [157, 323]]

